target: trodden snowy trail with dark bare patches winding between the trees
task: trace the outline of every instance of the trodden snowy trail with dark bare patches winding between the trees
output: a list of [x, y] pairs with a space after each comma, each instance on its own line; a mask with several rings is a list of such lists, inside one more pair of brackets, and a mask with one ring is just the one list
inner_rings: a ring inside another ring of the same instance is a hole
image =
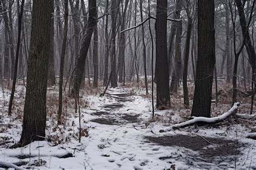
[[97, 115], [90, 122], [98, 124], [95, 131], [100, 131], [95, 134], [101, 141], [98, 147], [113, 166], [157, 169], [170, 168], [172, 164], [183, 161], [193, 168], [234, 167], [233, 163], [240, 154], [236, 148], [242, 147], [240, 143], [205, 137], [214, 144], [211, 146], [203, 139], [188, 134], [153, 134], [150, 128], [145, 128], [146, 121], [150, 119], [150, 106], [147, 107], [150, 103], [139, 103], [145, 98], [129, 96], [125, 92], [109, 92], [107, 95], [115, 101], [103, 105], [100, 111], [90, 113]]

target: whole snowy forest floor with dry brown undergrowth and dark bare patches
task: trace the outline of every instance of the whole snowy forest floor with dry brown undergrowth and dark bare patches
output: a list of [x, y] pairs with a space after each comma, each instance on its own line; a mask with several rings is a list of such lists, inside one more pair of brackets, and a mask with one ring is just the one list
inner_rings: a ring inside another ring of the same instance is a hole
[[[255, 126], [254, 120], [231, 119], [214, 126], [159, 133], [162, 128], [188, 120], [190, 109], [181, 106], [183, 98], [177, 95], [172, 97], [172, 108], [156, 111], [152, 120], [151, 99], [143, 90], [119, 87], [107, 90], [104, 97], [99, 97], [103, 89], [93, 93], [85, 90], [79, 102], [82, 127], [79, 143], [75, 101], [65, 100], [64, 93], [64, 124], [57, 126], [58, 90], [51, 88], [47, 141], [10, 149], [22, 132], [25, 87], [18, 86], [10, 117], [7, 114], [10, 91], [4, 89], [0, 94], [0, 164], [38, 169], [169, 169], [172, 165], [176, 169], [256, 168], [256, 143], [246, 138]], [[230, 104], [213, 104], [212, 115], [223, 114], [230, 107]], [[248, 113], [248, 107], [242, 104], [238, 113]]]

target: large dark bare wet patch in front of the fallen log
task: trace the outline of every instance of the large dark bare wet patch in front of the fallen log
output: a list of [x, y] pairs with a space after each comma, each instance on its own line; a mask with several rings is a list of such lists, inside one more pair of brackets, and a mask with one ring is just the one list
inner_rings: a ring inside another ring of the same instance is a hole
[[[161, 146], [179, 146], [197, 151], [198, 155], [191, 157], [194, 162], [204, 161], [214, 162], [215, 164], [232, 162], [235, 160], [236, 155], [240, 154], [239, 148], [241, 144], [239, 142], [221, 138], [204, 138], [214, 145], [208, 144], [204, 139], [197, 136], [180, 134], [165, 137], [146, 137], [145, 139]], [[189, 154], [187, 156], [189, 157]], [[165, 159], [168, 158], [167, 156]]]

